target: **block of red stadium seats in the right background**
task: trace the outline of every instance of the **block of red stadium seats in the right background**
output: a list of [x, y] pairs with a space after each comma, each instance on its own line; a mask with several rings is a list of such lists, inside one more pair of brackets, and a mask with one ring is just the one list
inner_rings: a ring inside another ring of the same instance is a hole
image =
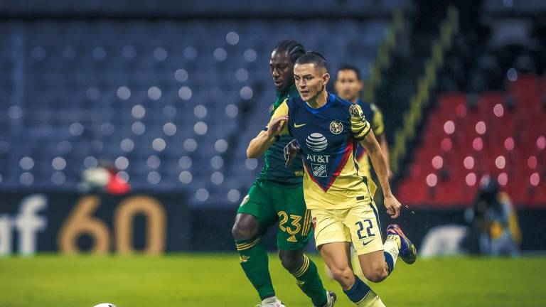
[[[505, 103], [507, 94], [516, 101], [513, 108]], [[464, 93], [440, 95], [400, 185], [401, 200], [408, 205], [470, 205], [479, 178], [491, 174], [515, 204], [545, 206], [545, 178], [536, 182], [535, 175], [535, 182], [530, 181], [533, 173], [546, 173], [543, 95], [546, 78], [532, 75], [520, 75], [507, 93], [483, 93], [474, 108], [468, 107]], [[429, 174], [436, 176], [432, 186], [427, 185]]]

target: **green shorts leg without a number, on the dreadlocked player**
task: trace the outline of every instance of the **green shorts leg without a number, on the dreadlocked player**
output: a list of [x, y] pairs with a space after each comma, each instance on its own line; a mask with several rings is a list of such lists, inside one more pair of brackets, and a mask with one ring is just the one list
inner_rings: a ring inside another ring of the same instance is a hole
[[274, 204], [268, 193], [267, 184], [256, 181], [248, 190], [245, 198], [242, 199], [237, 209], [237, 215], [252, 215], [259, 221], [262, 228], [272, 225], [277, 221], [277, 212], [274, 210]]

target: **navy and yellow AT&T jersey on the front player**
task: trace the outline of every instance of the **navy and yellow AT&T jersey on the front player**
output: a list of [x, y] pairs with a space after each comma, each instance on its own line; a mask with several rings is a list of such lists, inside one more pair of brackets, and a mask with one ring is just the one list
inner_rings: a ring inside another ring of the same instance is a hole
[[[346, 209], [371, 201], [368, 185], [358, 173], [355, 160], [358, 140], [350, 124], [353, 104], [328, 94], [323, 107], [314, 109], [300, 97], [291, 97], [272, 119], [288, 115], [282, 134], [299, 143], [304, 162], [304, 195], [309, 209]], [[365, 123], [363, 135], [370, 131]]]

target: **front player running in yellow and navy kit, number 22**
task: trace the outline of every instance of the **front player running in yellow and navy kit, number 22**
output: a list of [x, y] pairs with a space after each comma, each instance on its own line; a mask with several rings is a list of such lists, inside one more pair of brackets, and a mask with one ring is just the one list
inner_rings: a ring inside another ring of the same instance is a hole
[[311, 210], [316, 247], [333, 278], [356, 306], [384, 306], [350, 267], [350, 244], [359, 255], [364, 276], [373, 282], [387, 278], [400, 255], [412, 264], [414, 245], [397, 225], [387, 227], [382, 242], [378, 211], [368, 184], [358, 173], [355, 151], [364, 146], [378, 173], [387, 212], [396, 218], [400, 203], [392, 195], [385, 158], [362, 109], [326, 92], [330, 80], [326, 59], [308, 52], [296, 60], [294, 80], [300, 97], [291, 97], [274, 112], [264, 148], [279, 135], [291, 134], [301, 147], [304, 198]]

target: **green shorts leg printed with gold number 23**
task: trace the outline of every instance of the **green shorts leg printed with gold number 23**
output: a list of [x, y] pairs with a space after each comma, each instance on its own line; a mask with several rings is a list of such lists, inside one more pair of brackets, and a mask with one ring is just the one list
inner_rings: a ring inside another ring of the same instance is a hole
[[279, 217], [277, 247], [285, 251], [304, 249], [311, 238], [312, 223], [303, 188], [277, 188], [274, 198]]

